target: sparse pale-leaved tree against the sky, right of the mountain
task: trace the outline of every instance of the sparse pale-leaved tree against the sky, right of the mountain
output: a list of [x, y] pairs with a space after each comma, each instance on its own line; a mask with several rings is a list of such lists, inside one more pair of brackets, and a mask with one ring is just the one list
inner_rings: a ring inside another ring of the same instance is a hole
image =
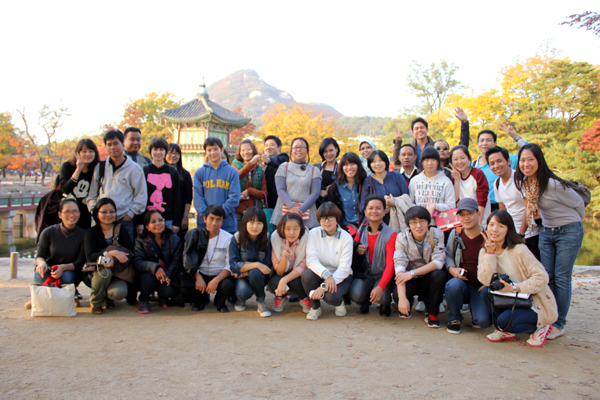
[[426, 115], [437, 113], [446, 103], [448, 95], [462, 87], [455, 78], [458, 67], [444, 60], [439, 65], [432, 62], [429, 68], [423, 68], [413, 61], [411, 67], [413, 72], [407, 78], [408, 88], [424, 100], [425, 104], [419, 111]]

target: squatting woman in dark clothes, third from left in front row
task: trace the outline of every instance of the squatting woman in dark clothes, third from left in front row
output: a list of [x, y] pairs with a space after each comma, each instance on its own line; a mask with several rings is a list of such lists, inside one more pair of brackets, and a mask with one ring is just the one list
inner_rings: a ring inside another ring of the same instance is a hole
[[167, 308], [169, 298], [178, 290], [171, 285], [172, 277], [181, 267], [181, 240], [170, 229], [160, 211], [152, 210], [144, 217], [144, 231], [135, 239], [133, 265], [140, 271], [141, 314], [150, 312], [150, 293], [158, 290], [158, 306]]

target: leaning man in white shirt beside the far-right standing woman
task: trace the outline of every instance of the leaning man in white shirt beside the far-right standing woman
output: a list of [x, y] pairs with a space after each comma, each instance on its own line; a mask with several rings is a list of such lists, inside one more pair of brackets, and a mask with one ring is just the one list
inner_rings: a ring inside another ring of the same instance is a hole
[[525, 239], [525, 244], [535, 258], [540, 260], [540, 249], [538, 248], [540, 227], [533, 226], [533, 229], [528, 229], [526, 226], [525, 202], [523, 194], [515, 185], [515, 170], [510, 167], [508, 151], [505, 148], [494, 146], [487, 150], [485, 158], [492, 172], [499, 178], [494, 182], [494, 195], [498, 206], [513, 217], [515, 228]]

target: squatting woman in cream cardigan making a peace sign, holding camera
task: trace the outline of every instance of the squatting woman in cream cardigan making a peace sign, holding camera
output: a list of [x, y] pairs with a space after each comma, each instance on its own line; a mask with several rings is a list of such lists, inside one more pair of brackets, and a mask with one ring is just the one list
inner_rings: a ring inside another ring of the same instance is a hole
[[[523, 244], [508, 212], [494, 211], [487, 220], [487, 236], [482, 235], [486, 239], [485, 248], [479, 253], [477, 268], [477, 278], [486, 286], [481, 291], [482, 300], [490, 309], [496, 298], [506, 300], [493, 294], [492, 290], [512, 295], [507, 297], [510, 302], [503, 301], [509, 308], [493, 308], [496, 331], [487, 335], [487, 340], [516, 340], [517, 333], [530, 333], [528, 346], [544, 346], [552, 324], [558, 319], [556, 300], [548, 286], [548, 273]], [[512, 284], [507, 282], [506, 276]], [[500, 279], [494, 279], [498, 277]], [[518, 293], [529, 294], [530, 305], [514, 307], [513, 299]]]

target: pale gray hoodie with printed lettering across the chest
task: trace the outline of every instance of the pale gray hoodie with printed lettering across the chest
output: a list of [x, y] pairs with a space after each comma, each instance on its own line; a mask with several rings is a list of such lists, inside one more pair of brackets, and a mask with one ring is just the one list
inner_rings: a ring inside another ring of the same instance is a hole
[[427, 207], [435, 204], [437, 211], [448, 211], [456, 207], [454, 186], [443, 171], [429, 178], [425, 171], [411, 179], [408, 186], [410, 199], [417, 206]]

